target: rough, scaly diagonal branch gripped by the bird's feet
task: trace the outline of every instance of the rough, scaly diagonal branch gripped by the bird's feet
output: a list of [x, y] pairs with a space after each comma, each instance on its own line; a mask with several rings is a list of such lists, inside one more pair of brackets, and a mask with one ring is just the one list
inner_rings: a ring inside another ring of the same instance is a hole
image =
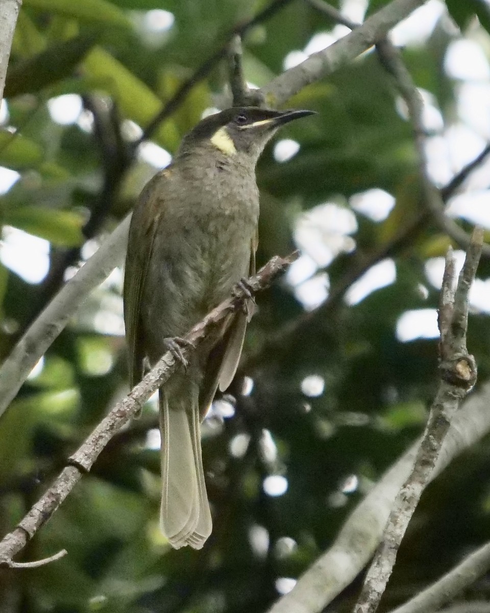
[[[252, 276], [247, 282], [247, 288], [256, 293], [268, 287], [279, 273], [283, 272], [291, 262], [295, 261], [298, 253], [292, 253], [288, 257], [275, 256], [259, 270], [257, 275]], [[186, 340], [194, 347], [184, 346], [184, 357], [202, 343], [206, 336], [216, 330], [217, 324], [221, 326], [230, 319], [230, 315], [243, 307], [244, 301], [249, 297], [242, 287], [237, 286], [233, 296], [222, 302], [211, 313], [200, 321], [186, 335]], [[222, 328], [221, 328], [222, 329]], [[107, 417], [100, 422], [86, 441], [70, 457], [70, 465], [66, 466], [51, 487], [43, 494], [39, 501], [31, 508], [28, 514], [21, 520], [17, 528], [9, 533], [0, 543], [0, 565], [9, 566], [14, 555], [26, 545], [58, 509], [83, 474], [88, 472], [100, 452], [108, 441], [120, 428], [134, 417], [146, 400], [153, 392], [161, 387], [179, 367], [171, 352], [167, 352], [149, 373], [121, 402], [118, 402]]]

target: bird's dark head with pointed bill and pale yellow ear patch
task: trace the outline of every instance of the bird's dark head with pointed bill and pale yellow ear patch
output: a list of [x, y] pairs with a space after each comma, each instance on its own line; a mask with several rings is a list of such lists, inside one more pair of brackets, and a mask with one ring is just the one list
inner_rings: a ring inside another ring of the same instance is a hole
[[232, 107], [209, 115], [187, 134], [181, 153], [209, 147], [230, 159], [248, 159], [255, 164], [266, 143], [277, 129], [300, 117], [312, 115], [309, 110], [274, 111], [258, 107]]

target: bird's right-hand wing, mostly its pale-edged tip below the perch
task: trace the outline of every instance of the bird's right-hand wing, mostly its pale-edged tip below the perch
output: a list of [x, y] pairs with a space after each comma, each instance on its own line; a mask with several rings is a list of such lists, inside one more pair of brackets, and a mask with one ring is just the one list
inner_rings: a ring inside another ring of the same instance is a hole
[[[257, 250], [257, 243], [258, 237], [256, 233], [251, 242], [250, 275], [255, 275], [255, 251]], [[200, 393], [199, 413], [201, 419], [204, 419], [209, 405], [213, 402], [218, 386], [220, 391], [224, 392], [233, 381], [243, 348], [247, 321], [251, 318], [253, 310], [254, 302], [249, 301], [248, 318], [245, 313], [236, 313], [224, 337], [214, 346], [209, 354], [203, 387]]]

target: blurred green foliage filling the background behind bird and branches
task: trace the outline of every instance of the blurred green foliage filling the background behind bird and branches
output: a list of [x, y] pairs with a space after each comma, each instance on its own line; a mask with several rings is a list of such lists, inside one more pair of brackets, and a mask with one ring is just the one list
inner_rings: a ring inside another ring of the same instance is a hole
[[[156, 145], [173, 153], [205, 109], [221, 99], [223, 63], [195, 83], [154, 130], [153, 148], [143, 145], [134, 156], [130, 143], [230, 30], [267, 4], [24, 0], [7, 75], [8, 116], [0, 132], [0, 164], [20, 178], [2, 196], [1, 222], [4, 233], [13, 227], [49, 242], [50, 272], [40, 283], [29, 283], [0, 265], [2, 359], [53, 288], [130, 210], [158, 166], [149, 157], [159, 151]], [[368, 12], [384, 4], [371, 0]], [[477, 13], [488, 28], [488, 6], [478, 0], [447, 4], [466, 36], [485, 40], [481, 48], [488, 54], [488, 38], [475, 21]], [[290, 52], [333, 28], [306, 2], [285, 4], [247, 31], [247, 79], [263, 85], [284, 70]], [[415, 82], [432, 94], [448, 125], [457, 121], [459, 84], [443, 63], [460, 36], [446, 15], [423, 43], [404, 50]], [[81, 96], [78, 121], [55, 120], [53, 98], [61, 107], [74, 102], [59, 97], [64, 94]], [[253, 381], [252, 392], [241, 395], [238, 378], [228, 397], [233, 416], [224, 419], [216, 405], [203, 426], [213, 536], [201, 552], [173, 551], [159, 533], [159, 455], [149, 444], [157, 416], [149, 403], [140, 421], [108, 444], [22, 559], [63, 547], [69, 555], [35, 570], [0, 572], [1, 613], [265, 611], [279, 596], [277, 580], [299, 576], [333, 543], [372, 482], [421, 432], [437, 386], [437, 342], [402, 343], [396, 326], [405, 311], [437, 307], [425, 264], [444, 254], [447, 238], [429, 222], [407, 234], [390, 252], [396, 281], [353, 305], [336, 300], [307, 314], [312, 305], [306, 308], [300, 300], [303, 281], [323, 293], [326, 284], [333, 292], [346, 278], [352, 284], [360, 262], [382, 253], [420, 213], [410, 126], [374, 53], [308, 86], [288, 105], [318, 115], [281, 135], [300, 145], [291, 159], [276, 161], [274, 143], [263, 154], [257, 171], [258, 264], [287, 253], [296, 242], [306, 249], [303, 262], [310, 268], [296, 286], [283, 280], [258, 297], [241, 371]], [[352, 206], [371, 189], [396, 198], [385, 219], [374, 221]], [[327, 202], [334, 205], [328, 211], [350, 211], [355, 227], [329, 230], [322, 207]], [[309, 216], [301, 217], [304, 213]], [[313, 232], [311, 245], [300, 240], [300, 218]], [[332, 257], [318, 256], [315, 263], [321, 248]], [[488, 275], [488, 263], [481, 270]], [[127, 392], [121, 280], [116, 270], [80, 307], [0, 419], [2, 535]], [[298, 321], [300, 333], [284, 332]], [[488, 315], [475, 314], [469, 349], [477, 357], [480, 381], [489, 376], [489, 341]], [[429, 487], [401, 547], [385, 608], [418, 592], [488, 539], [489, 465], [490, 447], [483, 440]], [[270, 475], [287, 478], [284, 495], [265, 492]], [[339, 596], [337, 610], [347, 610], [355, 589]], [[472, 590], [489, 596], [488, 582]]]

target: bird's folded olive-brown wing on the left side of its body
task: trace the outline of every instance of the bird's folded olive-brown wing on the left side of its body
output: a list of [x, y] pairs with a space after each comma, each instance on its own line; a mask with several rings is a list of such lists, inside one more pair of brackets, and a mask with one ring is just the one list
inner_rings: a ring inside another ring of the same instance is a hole
[[[133, 388], [143, 378], [143, 331], [141, 330], [140, 305], [148, 264], [153, 249], [156, 229], [162, 211], [161, 194], [165, 194], [165, 182], [170, 177], [170, 167], [157, 173], [145, 189], [135, 206], [127, 245], [124, 265], [124, 326], [129, 364], [129, 383]], [[156, 190], [156, 183], [159, 183]], [[151, 197], [157, 192], [159, 197]]]

